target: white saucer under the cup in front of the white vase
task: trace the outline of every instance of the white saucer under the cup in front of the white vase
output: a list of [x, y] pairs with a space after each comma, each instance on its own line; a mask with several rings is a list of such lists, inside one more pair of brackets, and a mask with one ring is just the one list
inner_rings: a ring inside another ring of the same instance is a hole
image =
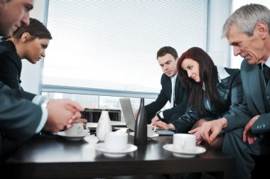
[[105, 143], [97, 143], [95, 148], [97, 151], [103, 152], [104, 155], [108, 157], [122, 157], [122, 156], [125, 156], [126, 153], [137, 150], [137, 146], [134, 146], [133, 144], [130, 144], [130, 143], [127, 144], [126, 149], [119, 150], [119, 151], [109, 151], [107, 148], [105, 148]]

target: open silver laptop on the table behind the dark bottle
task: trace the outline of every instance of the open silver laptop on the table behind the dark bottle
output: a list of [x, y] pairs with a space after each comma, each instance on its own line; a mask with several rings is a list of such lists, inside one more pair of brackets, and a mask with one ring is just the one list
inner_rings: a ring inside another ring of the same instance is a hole
[[[135, 117], [133, 113], [133, 109], [131, 106], [131, 102], [129, 98], [120, 98], [121, 109], [124, 115], [124, 120], [126, 121], [126, 127], [131, 131], [135, 129]], [[155, 131], [159, 135], [173, 135], [175, 132], [166, 130], [166, 129], [156, 129]]]

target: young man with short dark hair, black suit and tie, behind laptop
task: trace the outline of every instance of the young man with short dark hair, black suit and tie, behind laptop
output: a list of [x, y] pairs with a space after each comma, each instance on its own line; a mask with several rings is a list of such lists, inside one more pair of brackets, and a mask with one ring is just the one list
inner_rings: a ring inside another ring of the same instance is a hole
[[[170, 46], [165, 46], [158, 50], [156, 58], [163, 70], [163, 75], [161, 76], [162, 89], [156, 101], [145, 106], [148, 124], [158, 120], [170, 122], [178, 119], [178, 116], [185, 112], [190, 95], [188, 90], [183, 89], [177, 75], [177, 51]], [[172, 94], [173, 87], [174, 94]], [[171, 102], [171, 108], [160, 111], [167, 102]]]

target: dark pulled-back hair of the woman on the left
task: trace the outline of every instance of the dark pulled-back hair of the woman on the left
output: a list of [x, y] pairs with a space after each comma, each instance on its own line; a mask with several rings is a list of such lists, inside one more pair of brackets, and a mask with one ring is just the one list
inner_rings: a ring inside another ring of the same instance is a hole
[[11, 36], [14, 40], [19, 40], [23, 33], [29, 33], [31, 38], [29, 40], [35, 40], [36, 38], [48, 38], [52, 39], [50, 31], [44, 26], [43, 23], [38, 21], [36, 18], [30, 18], [28, 26], [21, 26]]

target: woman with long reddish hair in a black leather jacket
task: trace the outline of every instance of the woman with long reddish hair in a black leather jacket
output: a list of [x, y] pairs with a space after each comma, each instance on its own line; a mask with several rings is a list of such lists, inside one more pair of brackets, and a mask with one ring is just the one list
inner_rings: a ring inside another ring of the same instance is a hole
[[[243, 99], [239, 69], [217, 67], [204, 50], [194, 47], [180, 56], [178, 75], [183, 87], [191, 91], [189, 107], [183, 116], [171, 124], [157, 121], [153, 125], [177, 133], [187, 133], [203, 121], [237, 116], [234, 107], [242, 103]], [[194, 134], [197, 143], [200, 143], [202, 139], [198, 132], [196, 130]]]

